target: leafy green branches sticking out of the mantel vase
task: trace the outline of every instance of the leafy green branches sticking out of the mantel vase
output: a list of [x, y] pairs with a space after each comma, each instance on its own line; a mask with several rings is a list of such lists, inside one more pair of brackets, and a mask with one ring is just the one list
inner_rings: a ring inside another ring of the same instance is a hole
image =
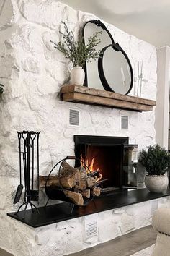
[[84, 67], [86, 61], [91, 62], [91, 59], [97, 59], [99, 56], [99, 51], [97, 52], [95, 47], [100, 43], [100, 39], [97, 38], [97, 35], [102, 32], [94, 33], [90, 38], [88, 38], [88, 43], [84, 44], [84, 38], [81, 36], [79, 40], [75, 40], [73, 32], [68, 31], [68, 27], [65, 22], [62, 22], [64, 25], [65, 33], [63, 35], [63, 42], [54, 43], [50, 40], [51, 43], [54, 43], [54, 47], [61, 51], [67, 59], [73, 63], [73, 66]]

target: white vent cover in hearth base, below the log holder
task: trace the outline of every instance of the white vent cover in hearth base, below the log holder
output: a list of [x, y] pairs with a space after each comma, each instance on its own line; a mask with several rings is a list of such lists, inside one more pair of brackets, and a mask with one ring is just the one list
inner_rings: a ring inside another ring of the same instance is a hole
[[97, 214], [94, 216], [85, 216], [84, 221], [84, 239], [87, 240], [98, 235]]

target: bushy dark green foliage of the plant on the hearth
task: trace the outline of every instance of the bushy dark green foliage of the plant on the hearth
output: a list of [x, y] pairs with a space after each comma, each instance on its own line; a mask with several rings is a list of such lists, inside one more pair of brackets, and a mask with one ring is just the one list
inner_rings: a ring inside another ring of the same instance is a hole
[[146, 168], [148, 175], [164, 175], [170, 166], [170, 155], [158, 144], [141, 150], [138, 161]]

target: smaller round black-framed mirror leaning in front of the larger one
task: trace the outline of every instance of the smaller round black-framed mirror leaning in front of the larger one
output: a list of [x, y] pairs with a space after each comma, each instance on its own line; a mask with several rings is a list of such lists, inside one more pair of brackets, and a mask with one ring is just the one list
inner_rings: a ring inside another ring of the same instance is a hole
[[[112, 59], [112, 65], [108, 65]], [[99, 77], [105, 90], [128, 94], [133, 87], [133, 69], [118, 43], [102, 48], [98, 59]]]

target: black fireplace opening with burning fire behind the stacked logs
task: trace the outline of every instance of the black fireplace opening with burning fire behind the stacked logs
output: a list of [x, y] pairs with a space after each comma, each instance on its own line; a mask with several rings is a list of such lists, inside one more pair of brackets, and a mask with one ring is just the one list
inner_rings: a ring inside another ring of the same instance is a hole
[[102, 192], [137, 187], [138, 145], [130, 145], [128, 137], [74, 135], [74, 142], [76, 158], [97, 174]]

